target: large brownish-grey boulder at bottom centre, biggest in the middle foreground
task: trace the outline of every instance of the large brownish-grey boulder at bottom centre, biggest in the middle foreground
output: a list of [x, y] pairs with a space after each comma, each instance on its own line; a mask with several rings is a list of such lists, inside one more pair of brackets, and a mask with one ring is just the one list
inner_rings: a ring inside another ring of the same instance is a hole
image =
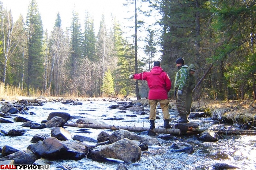
[[91, 150], [92, 159], [114, 158], [124, 162], [136, 162], [140, 159], [141, 149], [130, 139], [121, 139], [110, 145], [103, 145]]

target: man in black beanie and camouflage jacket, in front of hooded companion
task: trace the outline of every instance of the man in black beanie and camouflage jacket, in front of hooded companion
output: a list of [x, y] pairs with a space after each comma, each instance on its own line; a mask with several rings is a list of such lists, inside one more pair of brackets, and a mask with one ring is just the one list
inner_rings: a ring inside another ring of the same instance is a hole
[[176, 66], [178, 72], [175, 76], [174, 95], [176, 96], [176, 107], [178, 110], [179, 119], [177, 123], [188, 123], [188, 112], [186, 110], [186, 96], [188, 88], [188, 66], [184, 65], [184, 59], [178, 58], [176, 60]]

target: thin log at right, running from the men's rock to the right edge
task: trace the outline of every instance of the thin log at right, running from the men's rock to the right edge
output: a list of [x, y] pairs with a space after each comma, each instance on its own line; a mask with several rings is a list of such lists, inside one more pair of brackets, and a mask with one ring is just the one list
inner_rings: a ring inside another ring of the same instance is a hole
[[[207, 129], [189, 129], [187, 134], [202, 133]], [[220, 135], [256, 135], [256, 130], [225, 130], [225, 129], [211, 129]]]

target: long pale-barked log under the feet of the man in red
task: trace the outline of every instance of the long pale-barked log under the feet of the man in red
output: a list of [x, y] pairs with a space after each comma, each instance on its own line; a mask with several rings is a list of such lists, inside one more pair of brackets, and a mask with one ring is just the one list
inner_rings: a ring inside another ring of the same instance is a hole
[[[64, 126], [71, 127], [80, 127], [80, 128], [91, 128], [91, 129], [111, 129], [111, 130], [128, 130], [128, 131], [149, 131], [149, 128], [145, 127], [130, 127], [130, 126], [110, 126], [110, 125], [101, 125], [101, 124], [80, 124], [80, 123], [65, 123]], [[154, 133], [159, 134], [172, 134], [172, 135], [180, 135], [180, 129], [164, 129], [164, 128], [155, 128], [151, 130]]]

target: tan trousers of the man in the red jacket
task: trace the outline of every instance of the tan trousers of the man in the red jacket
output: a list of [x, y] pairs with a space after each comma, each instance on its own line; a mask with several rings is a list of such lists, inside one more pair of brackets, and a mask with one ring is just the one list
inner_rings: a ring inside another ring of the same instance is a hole
[[169, 119], [170, 113], [169, 113], [169, 100], [148, 100], [148, 103], [150, 104], [150, 111], [149, 111], [149, 120], [155, 120], [156, 117], [156, 109], [157, 109], [157, 102], [160, 103], [160, 107], [163, 112], [163, 119]]

